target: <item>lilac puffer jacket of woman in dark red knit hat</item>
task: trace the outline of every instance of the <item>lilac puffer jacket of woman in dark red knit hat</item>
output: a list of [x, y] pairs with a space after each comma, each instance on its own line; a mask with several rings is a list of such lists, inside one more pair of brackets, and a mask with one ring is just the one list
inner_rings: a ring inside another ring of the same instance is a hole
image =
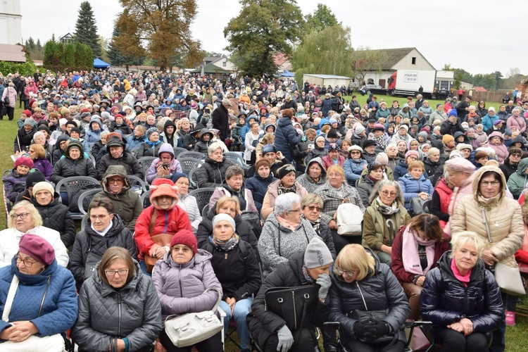
[[169, 253], [156, 262], [152, 270], [152, 280], [161, 303], [161, 318], [165, 325], [168, 315], [182, 315], [191, 312], [210, 310], [218, 300], [216, 291], [206, 291], [214, 287], [222, 294], [210, 263], [211, 254], [199, 249], [188, 263], [177, 264]]

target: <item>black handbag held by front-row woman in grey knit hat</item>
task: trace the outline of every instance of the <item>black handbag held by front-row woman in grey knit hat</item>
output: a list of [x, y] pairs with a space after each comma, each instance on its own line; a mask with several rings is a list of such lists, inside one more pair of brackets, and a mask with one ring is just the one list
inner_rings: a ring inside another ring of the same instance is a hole
[[318, 291], [313, 285], [272, 287], [265, 292], [266, 310], [279, 315], [291, 331], [301, 329], [306, 313], [311, 314], [318, 301]]

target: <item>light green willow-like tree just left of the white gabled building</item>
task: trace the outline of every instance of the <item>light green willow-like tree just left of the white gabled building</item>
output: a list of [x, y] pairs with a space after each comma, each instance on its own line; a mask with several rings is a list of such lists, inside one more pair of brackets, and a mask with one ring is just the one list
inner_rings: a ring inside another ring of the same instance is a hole
[[[328, 40], [332, 38], [332, 40]], [[297, 82], [302, 82], [306, 73], [323, 75], [352, 75], [352, 48], [350, 28], [341, 25], [326, 27], [321, 32], [313, 30], [299, 44], [292, 56], [291, 64]]]

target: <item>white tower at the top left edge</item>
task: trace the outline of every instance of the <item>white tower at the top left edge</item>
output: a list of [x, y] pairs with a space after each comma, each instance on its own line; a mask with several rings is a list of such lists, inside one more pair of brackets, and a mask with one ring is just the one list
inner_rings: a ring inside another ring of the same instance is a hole
[[20, 0], [0, 0], [0, 44], [23, 44]]

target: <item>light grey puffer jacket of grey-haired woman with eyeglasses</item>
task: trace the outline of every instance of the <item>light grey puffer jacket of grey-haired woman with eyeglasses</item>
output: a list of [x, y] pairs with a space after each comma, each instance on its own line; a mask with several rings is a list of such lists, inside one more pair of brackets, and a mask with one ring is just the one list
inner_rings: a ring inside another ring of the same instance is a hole
[[271, 213], [264, 223], [258, 239], [258, 253], [262, 262], [263, 276], [266, 277], [277, 265], [288, 261], [289, 256], [298, 251], [305, 251], [315, 230], [308, 220], [301, 219], [295, 231], [282, 226], [275, 213]]

